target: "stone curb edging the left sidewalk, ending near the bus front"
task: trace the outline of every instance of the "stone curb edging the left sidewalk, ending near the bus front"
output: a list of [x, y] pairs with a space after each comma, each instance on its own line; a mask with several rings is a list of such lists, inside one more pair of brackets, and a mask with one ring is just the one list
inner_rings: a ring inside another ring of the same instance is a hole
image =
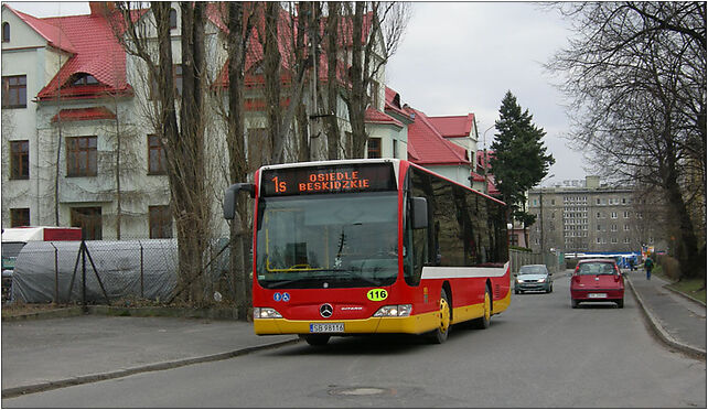
[[300, 338], [296, 337], [288, 341], [269, 343], [269, 344], [264, 344], [259, 346], [251, 346], [251, 347], [240, 348], [232, 352], [217, 353], [214, 355], [191, 357], [186, 359], [179, 359], [179, 360], [171, 360], [171, 362], [162, 362], [162, 363], [155, 363], [151, 365], [130, 367], [127, 369], [106, 371], [106, 373], [94, 374], [94, 375], [76, 376], [76, 377], [69, 377], [66, 379], [51, 380], [51, 381], [44, 381], [44, 382], [26, 385], [26, 386], [9, 387], [7, 389], [2, 389], [2, 398], [10, 399], [22, 395], [30, 395], [30, 393], [35, 393], [35, 392], [41, 392], [46, 390], [60, 389], [68, 386], [78, 386], [78, 385], [86, 385], [89, 382], [101, 381], [101, 380], [116, 379], [119, 377], [137, 375], [140, 373], [168, 370], [168, 369], [173, 369], [178, 367], [195, 365], [201, 363], [225, 360], [225, 359], [247, 355], [249, 353], [254, 353], [258, 350], [265, 350], [269, 348], [277, 348], [277, 347], [287, 346], [290, 344], [296, 344], [298, 342], [300, 342]]

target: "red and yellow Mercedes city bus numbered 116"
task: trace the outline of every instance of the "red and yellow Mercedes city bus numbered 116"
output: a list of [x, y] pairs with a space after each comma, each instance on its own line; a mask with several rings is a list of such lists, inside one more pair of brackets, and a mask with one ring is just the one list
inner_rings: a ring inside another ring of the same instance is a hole
[[504, 203], [404, 160], [262, 166], [254, 213], [254, 328], [309, 344], [352, 334], [485, 328], [511, 301]]

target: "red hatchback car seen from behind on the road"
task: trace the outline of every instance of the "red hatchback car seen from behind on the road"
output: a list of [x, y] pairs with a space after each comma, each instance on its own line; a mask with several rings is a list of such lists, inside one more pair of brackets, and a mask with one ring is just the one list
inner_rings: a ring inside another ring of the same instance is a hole
[[586, 259], [578, 262], [570, 279], [570, 304], [614, 302], [624, 308], [624, 278], [614, 259]]

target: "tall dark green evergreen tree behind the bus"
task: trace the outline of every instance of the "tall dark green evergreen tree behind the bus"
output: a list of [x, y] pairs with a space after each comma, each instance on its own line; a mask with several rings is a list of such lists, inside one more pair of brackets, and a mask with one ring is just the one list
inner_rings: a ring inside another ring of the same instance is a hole
[[492, 143], [494, 157], [490, 161], [496, 187], [509, 209], [509, 218], [526, 228], [536, 220], [526, 212], [526, 191], [538, 184], [556, 160], [546, 153], [543, 138], [546, 131], [536, 127], [528, 109], [522, 111], [512, 91], [506, 91], [500, 107], [500, 119], [494, 122], [498, 133]]

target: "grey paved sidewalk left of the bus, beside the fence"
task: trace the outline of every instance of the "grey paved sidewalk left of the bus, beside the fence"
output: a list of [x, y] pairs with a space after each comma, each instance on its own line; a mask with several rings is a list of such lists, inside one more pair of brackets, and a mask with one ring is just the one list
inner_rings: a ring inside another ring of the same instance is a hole
[[225, 359], [296, 343], [253, 324], [175, 317], [79, 315], [2, 322], [2, 398]]

